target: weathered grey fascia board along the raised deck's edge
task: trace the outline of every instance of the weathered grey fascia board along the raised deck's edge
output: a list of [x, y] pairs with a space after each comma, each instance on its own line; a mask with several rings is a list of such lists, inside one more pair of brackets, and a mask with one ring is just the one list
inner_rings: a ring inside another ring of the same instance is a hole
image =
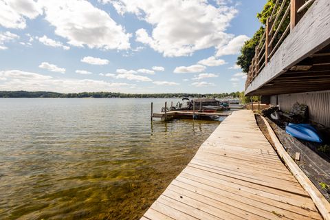
[[261, 88], [329, 43], [330, 4], [328, 0], [318, 0], [278, 47], [270, 63], [254, 78], [253, 83], [245, 90], [245, 95], [252, 94], [252, 91]]

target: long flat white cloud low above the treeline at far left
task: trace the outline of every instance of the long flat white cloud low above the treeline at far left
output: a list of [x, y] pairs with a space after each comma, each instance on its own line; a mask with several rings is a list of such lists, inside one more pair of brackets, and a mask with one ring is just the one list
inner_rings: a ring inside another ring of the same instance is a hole
[[52, 76], [44, 76], [21, 70], [0, 71], [0, 77], [6, 77], [0, 84], [1, 90], [28, 90], [28, 91], [58, 91], [58, 92], [82, 92], [82, 91], [122, 91], [135, 84], [109, 83], [104, 80], [91, 79], [55, 79]]

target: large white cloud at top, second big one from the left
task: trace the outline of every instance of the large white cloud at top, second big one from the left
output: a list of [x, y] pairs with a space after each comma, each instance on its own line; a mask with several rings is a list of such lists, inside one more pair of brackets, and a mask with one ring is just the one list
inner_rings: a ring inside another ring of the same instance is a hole
[[103, 50], [127, 50], [131, 34], [111, 19], [107, 12], [89, 1], [40, 1], [45, 20], [55, 28], [55, 34], [67, 39], [70, 45]]

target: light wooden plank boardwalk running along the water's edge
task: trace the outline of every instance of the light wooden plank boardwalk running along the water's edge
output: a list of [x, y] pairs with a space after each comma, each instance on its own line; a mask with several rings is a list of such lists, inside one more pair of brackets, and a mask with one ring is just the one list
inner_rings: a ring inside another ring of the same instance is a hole
[[251, 111], [234, 111], [142, 220], [322, 219]]

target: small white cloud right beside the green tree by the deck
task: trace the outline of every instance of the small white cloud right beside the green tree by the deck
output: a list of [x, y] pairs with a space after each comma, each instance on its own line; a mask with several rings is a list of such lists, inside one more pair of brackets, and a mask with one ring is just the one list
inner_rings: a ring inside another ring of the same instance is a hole
[[226, 45], [218, 45], [216, 56], [239, 54], [241, 47], [245, 41], [248, 41], [249, 39], [250, 38], [248, 36], [239, 35], [231, 39]]

